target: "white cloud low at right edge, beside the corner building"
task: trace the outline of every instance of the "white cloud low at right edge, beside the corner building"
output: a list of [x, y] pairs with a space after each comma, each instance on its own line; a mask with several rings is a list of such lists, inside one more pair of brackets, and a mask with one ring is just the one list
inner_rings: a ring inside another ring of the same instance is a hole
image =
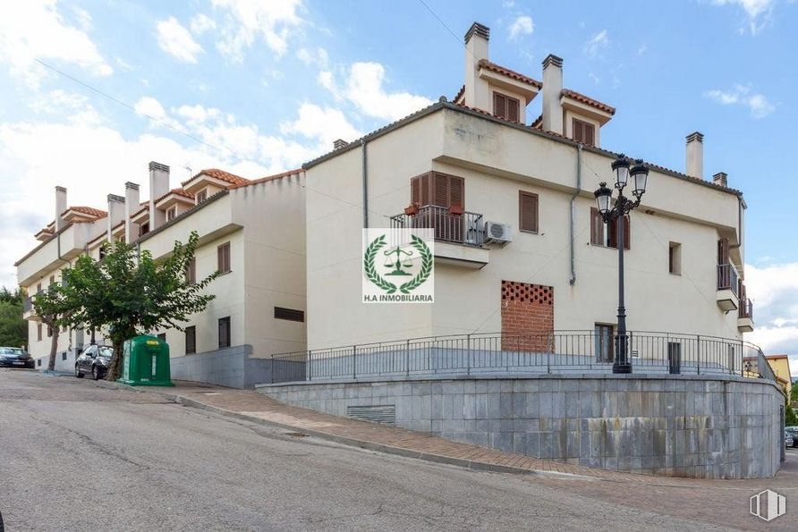
[[[755, 322], [746, 339], [769, 354], [798, 355], [798, 263], [746, 265], [745, 286]], [[793, 371], [798, 374], [798, 366]]]

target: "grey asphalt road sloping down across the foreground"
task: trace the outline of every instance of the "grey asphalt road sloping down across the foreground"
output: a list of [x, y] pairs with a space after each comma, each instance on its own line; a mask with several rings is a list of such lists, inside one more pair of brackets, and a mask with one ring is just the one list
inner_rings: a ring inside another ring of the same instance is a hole
[[89, 379], [2, 369], [0, 511], [8, 531], [712, 529], [531, 477], [361, 451]]

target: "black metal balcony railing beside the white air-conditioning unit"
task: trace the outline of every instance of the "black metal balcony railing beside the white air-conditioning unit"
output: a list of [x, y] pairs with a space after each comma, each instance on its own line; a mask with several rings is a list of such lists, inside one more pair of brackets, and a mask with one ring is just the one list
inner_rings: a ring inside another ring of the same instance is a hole
[[414, 215], [391, 216], [391, 229], [429, 227], [435, 240], [480, 247], [485, 241], [485, 223], [477, 213], [456, 213], [447, 207], [426, 205]]

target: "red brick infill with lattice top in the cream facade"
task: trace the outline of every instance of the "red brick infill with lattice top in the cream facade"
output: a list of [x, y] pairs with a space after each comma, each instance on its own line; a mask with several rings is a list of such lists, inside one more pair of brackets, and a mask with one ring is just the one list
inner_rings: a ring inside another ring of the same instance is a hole
[[548, 352], [554, 332], [554, 288], [502, 281], [502, 350]]

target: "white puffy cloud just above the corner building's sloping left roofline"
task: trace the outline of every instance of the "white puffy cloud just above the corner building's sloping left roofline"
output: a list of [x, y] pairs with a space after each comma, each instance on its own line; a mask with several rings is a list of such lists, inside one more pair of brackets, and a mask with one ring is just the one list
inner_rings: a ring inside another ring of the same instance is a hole
[[344, 85], [339, 87], [331, 72], [319, 72], [318, 83], [337, 98], [345, 98], [369, 116], [398, 120], [429, 106], [427, 97], [409, 92], [386, 92], [385, 67], [380, 63], [352, 63]]

